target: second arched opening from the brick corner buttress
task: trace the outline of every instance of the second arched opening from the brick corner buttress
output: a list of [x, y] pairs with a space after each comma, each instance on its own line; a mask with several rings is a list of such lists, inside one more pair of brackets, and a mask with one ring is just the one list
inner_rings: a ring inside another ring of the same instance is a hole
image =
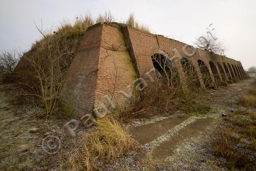
[[180, 60], [182, 64], [182, 68], [186, 77], [186, 83], [190, 88], [200, 87], [200, 81], [198, 79], [198, 74], [196, 72], [196, 68], [193, 66], [192, 62], [190, 62], [187, 58], [182, 58]]

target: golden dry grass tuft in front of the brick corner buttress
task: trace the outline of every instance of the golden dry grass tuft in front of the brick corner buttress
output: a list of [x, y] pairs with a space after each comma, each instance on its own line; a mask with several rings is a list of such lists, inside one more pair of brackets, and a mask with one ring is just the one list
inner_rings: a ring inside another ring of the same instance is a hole
[[98, 127], [84, 133], [81, 147], [62, 164], [68, 170], [95, 170], [134, 149], [127, 131], [112, 117], [97, 121]]

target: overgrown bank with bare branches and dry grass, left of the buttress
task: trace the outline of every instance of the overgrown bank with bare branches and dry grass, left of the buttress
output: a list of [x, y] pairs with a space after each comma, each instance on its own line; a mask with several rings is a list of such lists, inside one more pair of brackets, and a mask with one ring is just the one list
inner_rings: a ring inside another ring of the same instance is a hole
[[85, 16], [73, 26], [62, 22], [56, 31], [50, 30], [48, 34], [42, 26], [36, 26], [43, 39], [37, 41], [32, 49], [24, 54], [15, 72], [19, 78], [19, 94], [34, 105], [45, 108], [46, 116], [54, 112], [64, 73], [85, 29], [91, 24], [93, 23], [90, 16]]

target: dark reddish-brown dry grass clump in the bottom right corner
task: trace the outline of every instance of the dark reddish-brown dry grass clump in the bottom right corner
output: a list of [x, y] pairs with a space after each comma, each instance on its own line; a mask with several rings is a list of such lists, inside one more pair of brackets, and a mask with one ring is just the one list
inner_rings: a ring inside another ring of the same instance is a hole
[[239, 169], [256, 169], [256, 113], [238, 109], [229, 119], [228, 126], [215, 132], [212, 141], [215, 155], [226, 158]]

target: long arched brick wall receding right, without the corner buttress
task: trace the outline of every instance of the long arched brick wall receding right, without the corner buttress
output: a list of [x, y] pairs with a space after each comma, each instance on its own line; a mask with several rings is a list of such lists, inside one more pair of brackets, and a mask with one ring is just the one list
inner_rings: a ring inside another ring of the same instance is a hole
[[[132, 58], [134, 58], [134, 62], [136, 63], [135, 65], [137, 66], [138, 70], [138, 76], [140, 77], [144, 77], [144, 73], [153, 67], [151, 56], [157, 53], [163, 54], [169, 59], [174, 59], [174, 64], [180, 70], [181, 76], [184, 77], [181, 64], [177, 61], [177, 59], [173, 58], [176, 56], [177, 52], [181, 58], [188, 59], [193, 64], [194, 68], [196, 68], [197, 75], [202, 87], [204, 87], [204, 81], [202, 79], [202, 71], [198, 66], [198, 60], [201, 60], [207, 67], [211, 81], [213, 83], [217, 81], [216, 78], [224, 81], [228, 80], [228, 75], [225, 72], [223, 63], [225, 63], [227, 67], [230, 65], [230, 68], [228, 67], [228, 74], [231, 77], [234, 75], [232, 79], [240, 79], [244, 76], [241, 63], [230, 58], [226, 58], [226, 56], [219, 56], [206, 50], [197, 48], [196, 54], [194, 54], [192, 57], [189, 57], [186, 56], [182, 50], [186, 44], [177, 40], [166, 38], [162, 35], [154, 35], [142, 32], [140, 30], [131, 28], [130, 26], [125, 26], [122, 29], [122, 32], [124, 34], [126, 44], [130, 46], [130, 54]], [[190, 46], [186, 46], [186, 50], [188, 54], [192, 54], [192, 49]], [[212, 72], [210, 63], [214, 65], [212, 66], [213, 69], [216, 68], [216, 71], [214, 70], [215, 73]], [[218, 64], [222, 68], [219, 68]], [[216, 77], [216, 74], [218, 74], [218, 77]]]

